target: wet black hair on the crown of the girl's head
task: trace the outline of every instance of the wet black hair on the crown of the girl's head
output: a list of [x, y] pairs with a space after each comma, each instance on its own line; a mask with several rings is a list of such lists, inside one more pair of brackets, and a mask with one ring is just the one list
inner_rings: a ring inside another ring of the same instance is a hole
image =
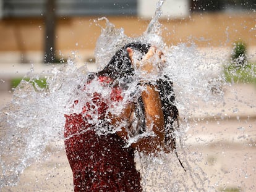
[[113, 80], [134, 75], [134, 69], [132, 68], [132, 62], [130, 61], [129, 54], [126, 50], [127, 48], [139, 51], [142, 54], [147, 54], [150, 44], [140, 42], [126, 44], [126, 46], [122, 47], [114, 54], [108, 65], [95, 75], [98, 77], [109, 77]]

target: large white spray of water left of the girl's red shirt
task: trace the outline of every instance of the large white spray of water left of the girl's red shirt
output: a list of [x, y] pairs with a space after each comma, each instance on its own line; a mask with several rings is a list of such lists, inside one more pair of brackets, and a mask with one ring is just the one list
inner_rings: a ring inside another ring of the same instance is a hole
[[47, 88], [36, 88], [32, 81], [37, 75], [30, 74], [30, 82], [23, 80], [15, 88], [11, 104], [0, 112], [1, 187], [17, 185], [25, 167], [48, 157], [45, 148], [49, 143], [62, 148], [64, 114], [74, 98], [74, 87], [83, 79], [77, 72], [69, 61], [61, 69], [53, 67], [47, 76], [40, 74], [47, 77]]

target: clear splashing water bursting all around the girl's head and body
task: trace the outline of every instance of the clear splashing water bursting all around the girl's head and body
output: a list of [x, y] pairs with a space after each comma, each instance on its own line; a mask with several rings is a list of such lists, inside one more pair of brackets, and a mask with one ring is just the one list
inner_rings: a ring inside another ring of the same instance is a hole
[[[219, 90], [218, 95], [213, 96], [212, 88], [220, 88], [224, 81], [221, 76], [209, 78], [212, 77], [215, 61], [208, 61], [205, 65], [203, 57], [194, 46], [187, 47], [186, 44], [166, 46], [164, 44], [161, 38], [161, 25], [158, 22], [163, 2], [158, 2], [155, 17], [148, 25], [147, 31], [139, 38], [127, 37], [124, 30], [114, 28], [112, 23], [103, 18], [106, 20], [106, 27], [102, 27], [101, 35], [96, 43], [96, 64], [99, 69], [103, 69], [114, 52], [132, 41], [154, 44], [163, 51], [166, 63], [161, 72], [152, 75], [147, 80], [154, 81], [163, 78], [164, 75], [171, 77], [176, 93], [176, 105], [181, 119], [185, 119], [184, 122], [186, 122], [186, 119], [192, 115], [191, 108], [199, 100], [221, 101], [223, 92]], [[108, 50], [105, 49], [106, 44], [109, 45]], [[80, 112], [82, 106], [77, 106], [74, 109], [70, 107], [74, 100], [83, 101], [81, 103], [87, 102], [88, 98], [79, 92], [78, 88], [84, 85], [88, 77], [87, 72], [82, 72], [75, 62], [69, 60], [59, 69], [53, 66], [48, 73], [40, 74], [41, 77], [47, 78], [46, 88], [40, 88], [32, 83], [38, 78], [38, 75], [28, 74], [30, 81], [22, 81], [15, 89], [11, 104], [4, 107], [0, 114], [2, 167], [0, 188], [5, 185], [17, 185], [19, 175], [26, 167], [48, 157], [50, 154], [45, 152], [45, 148], [49, 143], [54, 143], [56, 150], [64, 147], [64, 114]], [[107, 97], [109, 90], [100, 90], [98, 88], [100, 86], [95, 83], [88, 85], [87, 94], [90, 91], [92, 93], [96, 91]], [[130, 85], [130, 88], [132, 87], [135, 86]], [[129, 89], [129, 91], [134, 94], [135, 90]], [[129, 95], [129, 93], [125, 94]], [[129, 101], [129, 97], [125, 98], [123, 102], [126, 101]], [[122, 111], [122, 104], [109, 110], [119, 113]], [[174, 154], [162, 154], [159, 157], [145, 157], [142, 154], [136, 154], [144, 191], [215, 190], [209, 185], [207, 175], [200, 169], [195, 159], [186, 156], [182, 134], [187, 128], [189, 128], [187, 123], [181, 124], [181, 130], [176, 133], [180, 141], [177, 151], [187, 172], [181, 168]], [[134, 138], [130, 138], [130, 141], [132, 140]]]

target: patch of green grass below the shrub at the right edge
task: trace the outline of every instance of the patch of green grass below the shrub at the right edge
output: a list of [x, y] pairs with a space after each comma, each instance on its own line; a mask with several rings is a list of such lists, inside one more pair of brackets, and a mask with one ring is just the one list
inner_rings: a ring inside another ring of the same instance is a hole
[[229, 64], [224, 67], [226, 81], [234, 83], [254, 83], [256, 85], [256, 62], [248, 63], [243, 67]]

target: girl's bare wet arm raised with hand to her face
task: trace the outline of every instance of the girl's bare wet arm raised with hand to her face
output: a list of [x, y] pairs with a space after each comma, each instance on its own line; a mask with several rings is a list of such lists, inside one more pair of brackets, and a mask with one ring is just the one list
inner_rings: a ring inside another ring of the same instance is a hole
[[[127, 48], [127, 51], [132, 60], [132, 49]], [[142, 59], [143, 65], [140, 66], [140, 68], [146, 73], [151, 73], [154, 70], [151, 57], [155, 52], [156, 48], [151, 47]], [[135, 65], [134, 61], [132, 61], [132, 64]], [[155, 86], [149, 83], [144, 83], [143, 86], [145, 86], [145, 90], [142, 91], [142, 102], [145, 110], [146, 128], [148, 129], [147, 131], [152, 130], [155, 136], [141, 138], [137, 143], [132, 144], [132, 146], [139, 151], [149, 154], [151, 152], [161, 151], [164, 148], [164, 117], [161, 109], [160, 95], [158, 91], [156, 91]]]

